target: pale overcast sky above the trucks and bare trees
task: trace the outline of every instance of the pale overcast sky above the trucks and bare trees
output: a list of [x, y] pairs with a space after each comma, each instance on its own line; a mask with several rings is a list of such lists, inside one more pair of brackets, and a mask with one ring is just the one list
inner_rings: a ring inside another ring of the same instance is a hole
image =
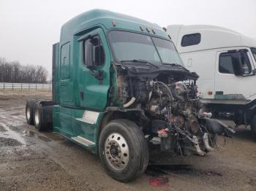
[[45, 66], [61, 25], [89, 9], [108, 9], [160, 26], [223, 26], [256, 39], [256, 0], [0, 0], [0, 57]]

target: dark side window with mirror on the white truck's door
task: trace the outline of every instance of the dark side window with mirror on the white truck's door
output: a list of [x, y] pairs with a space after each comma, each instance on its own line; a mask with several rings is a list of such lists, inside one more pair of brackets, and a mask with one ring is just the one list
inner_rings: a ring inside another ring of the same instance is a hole
[[247, 51], [239, 50], [236, 52], [225, 52], [220, 54], [219, 72], [223, 74], [251, 74], [252, 66], [249, 61]]

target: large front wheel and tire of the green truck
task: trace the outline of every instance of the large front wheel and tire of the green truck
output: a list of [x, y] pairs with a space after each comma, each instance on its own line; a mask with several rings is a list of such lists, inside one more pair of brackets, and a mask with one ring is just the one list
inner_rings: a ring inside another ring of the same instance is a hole
[[120, 182], [130, 182], [148, 165], [148, 145], [138, 125], [113, 120], [99, 135], [99, 158], [105, 171]]

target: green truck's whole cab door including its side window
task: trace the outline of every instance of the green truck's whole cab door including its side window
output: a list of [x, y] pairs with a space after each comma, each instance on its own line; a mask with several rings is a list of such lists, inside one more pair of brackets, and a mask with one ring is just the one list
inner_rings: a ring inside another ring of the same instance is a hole
[[[102, 111], [108, 103], [110, 88], [110, 50], [102, 28], [97, 28], [83, 35], [80, 42], [80, 63], [78, 71], [78, 90], [80, 106], [86, 109]], [[86, 48], [92, 45], [92, 62], [94, 66], [86, 65]], [[94, 75], [100, 71], [102, 79]]]

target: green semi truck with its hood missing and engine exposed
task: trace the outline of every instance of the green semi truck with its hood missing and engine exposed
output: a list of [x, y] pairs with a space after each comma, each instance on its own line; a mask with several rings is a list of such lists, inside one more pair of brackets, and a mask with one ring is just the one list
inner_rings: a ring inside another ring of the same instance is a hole
[[197, 78], [160, 26], [94, 9], [62, 26], [53, 101], [27, 101], [26, 119], [98, 154], [113, 179], [129, 182], [146, 170], [152, 144], [206, 155], [217, 134], [233, 132], [203, 111]]

